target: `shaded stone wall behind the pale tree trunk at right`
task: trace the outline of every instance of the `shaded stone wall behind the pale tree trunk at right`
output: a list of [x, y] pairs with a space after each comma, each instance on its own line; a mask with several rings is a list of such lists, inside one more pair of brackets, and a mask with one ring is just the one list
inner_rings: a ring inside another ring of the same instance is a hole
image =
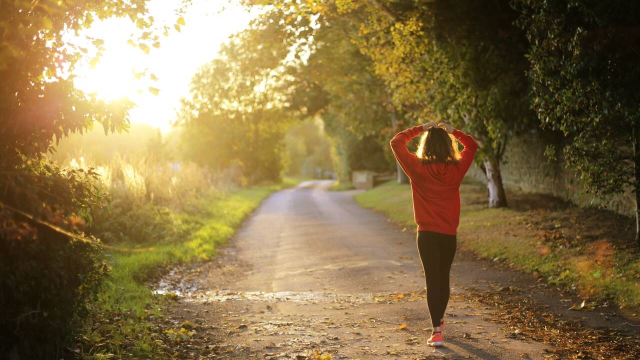
[[[561, 145], [561, 138], [552, 133], [543, 134], [540, 131], [511, 138], [504, 160], [500, 164], [504, 186], [511, 190], [556, 195], [571, 200], [579, 206], [598, 206], [600, 204], [598, 199], [582, 193], [579, 175], [562, 165], [561, 154], [557, 161], [547, 162], [544, 152], [547, 144], [551, 142]], [[486, 183], [486, 177], [475, 163], [468, 174]], [[627, 192], [614, 196], [606, 208], [633, 217], [636, 210], [633, 194]]]

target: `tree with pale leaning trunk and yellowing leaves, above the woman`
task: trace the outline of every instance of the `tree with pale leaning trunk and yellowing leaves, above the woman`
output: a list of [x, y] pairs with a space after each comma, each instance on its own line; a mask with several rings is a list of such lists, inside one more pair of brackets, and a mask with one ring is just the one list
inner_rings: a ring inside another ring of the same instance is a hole
[[412, 122], [452, 122], [478, 140], [489, 206], [506, 205], [500, 161], [508, 139], [531, 126], [527, 109], [526, 41], [508, 1], [344, 1], [342, 13], [364, 8], [356, 38]]

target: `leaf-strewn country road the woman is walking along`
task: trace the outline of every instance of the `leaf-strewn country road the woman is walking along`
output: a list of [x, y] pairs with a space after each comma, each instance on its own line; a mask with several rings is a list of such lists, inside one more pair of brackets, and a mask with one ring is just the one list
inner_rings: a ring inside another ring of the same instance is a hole
[[[470, 291], [510, 286], [536, 290], [532, 301], [557, 294], [464, 250], [452, 266], [445, 347], [428, 347], [415, 229], [401, 231], [358, 206], [355, 190], [330, 192], [330, 184], [310, 181], [271, 195], [213, 261], [164, 277], [161, 288], [180, 295], [173, 323], [193, 324], [181, 357], [305, 359], [316, 349], [333, 359], [557, 358], [552, 345], [518, 336], [526, 329], [491, 321], [499, 307], [468, 300]], [[558, 313], [567, 307], [557, 304]], [[565, 320], [584, 317], [564, 313]], [[595, 315], [581, 321], [614, 325]]]

